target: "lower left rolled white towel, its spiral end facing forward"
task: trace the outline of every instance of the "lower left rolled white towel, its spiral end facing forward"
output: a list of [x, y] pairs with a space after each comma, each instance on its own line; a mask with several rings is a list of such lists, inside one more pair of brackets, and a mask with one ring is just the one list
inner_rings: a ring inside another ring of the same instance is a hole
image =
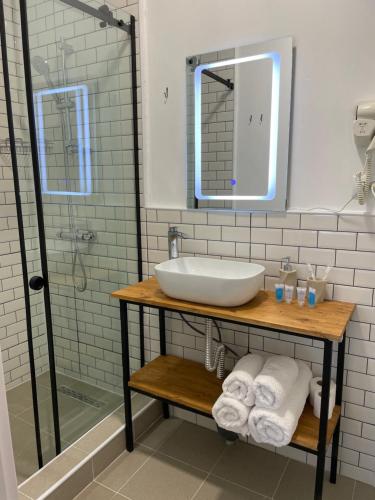
[[241, 401], [222, 394], [212, 407], [212, 416], [217, 425], [243, 436], [249, 434], [250, 408]]

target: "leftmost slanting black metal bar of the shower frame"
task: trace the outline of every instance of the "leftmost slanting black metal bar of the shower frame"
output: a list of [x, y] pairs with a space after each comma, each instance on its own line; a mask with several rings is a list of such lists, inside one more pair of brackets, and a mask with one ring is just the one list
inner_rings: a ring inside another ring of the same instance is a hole
[[8, 51], [7, 51], [7, 41], [6, 41], [6, 31], [5, 31], [3, 0], [0, 0], [0, 39], [1, 39], [1, 55], [3, 62], [5, 102], [6, 102], [8, 130], [9, 130], [10, 156], [12, 161], [14, 194], [16, 201], [18, 234], [20, 241], [20, 254], [22, 263], [23, 291], [24, 291], [25, 313], [26, 313], [26, 332], [27, 332], [27, 344], [29, 350], [31, 394], [33, 400], [36, 451], [38, 456], [38, 465], [39, 467], [43, 467], [43, 451], [42, 451], [41, 436], [40, 436], [40, 421], [39, 421], [39, 406], [38, 406], [38, 389], [37, 389], [36, 375], [35, 375], [34, 342], [32, 334], [30, 294], [29, 294], [29, 284], [27, 276], [27, 255], [25, 246], [25, 232], [23, 226], [22, 202], [20, 194], [21, 190], [20, 190], [20, 182], [18, 175], [16, 138], [14, 133], [12, 96], [11, 96], [10, 81], [9, 81]]

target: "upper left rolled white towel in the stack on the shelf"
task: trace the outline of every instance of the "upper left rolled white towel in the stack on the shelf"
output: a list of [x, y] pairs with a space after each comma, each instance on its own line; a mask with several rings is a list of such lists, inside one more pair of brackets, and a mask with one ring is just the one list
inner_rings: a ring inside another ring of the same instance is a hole
[[262, 369], [264, 358], [259, 354], [247, 354], [241, 358], [223, 382], [223, 392], [247, 406], [255, 403], [254, 379]]

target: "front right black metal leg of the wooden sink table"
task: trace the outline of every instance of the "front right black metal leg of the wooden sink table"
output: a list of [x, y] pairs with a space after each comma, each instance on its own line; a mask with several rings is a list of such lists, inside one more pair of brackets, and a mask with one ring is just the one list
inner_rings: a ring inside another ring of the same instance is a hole
[[332, 342], [324, 341], [323, 358], [323, 381], [322, 381], [322, 399], [320, 408], [319, 424], [319, 443], [318, 443], [318, 461], [316, 465], [315, 476], [315, 500], [323, 498], [324, 465], [326, 456], [328, 409], [329, 409], [329, 390], [331, 382], [331, 364], [332, 364]]

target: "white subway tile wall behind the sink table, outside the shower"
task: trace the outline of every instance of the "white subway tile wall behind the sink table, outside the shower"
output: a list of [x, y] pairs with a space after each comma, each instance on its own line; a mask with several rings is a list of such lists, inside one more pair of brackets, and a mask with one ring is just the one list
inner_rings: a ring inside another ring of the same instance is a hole
[[[167, 220], [163, 210], [147, 210], [144, 217], [149, 234], [153, 235], [153, 239], [148, 239], [147, 252], [152, 275], [154, 265], [167, 258], [165, 236], [172, 221]], [[163, 220], [163, 224], [152, 222], [155, 219]], [[272, 289], [278, 279], [282, 257], [291, 257], [300, 283], [307, 278], [307, 263], [312, 264], [318, 276], [325, 266], [333, 266], [328, 278], [328, 298], [357, 304], [347, 332], [340, 472], [374, 484], [375, 217], [173, 211], [173, 224], [178, 220], [189, 223], [189, 245], [182, 246], [181, 256], [239, 258], [261, 263], [266, 268], [267, 289]], [[194, 241], [199, 245], [195, 247]], [[201, 319], [188, 319], [204, 330]], [[159, 352], [154, 313], [150, 322], [153, 332], [152, 338], [146, 340], [148, 359]], [[167, 329], [168, 352], [203, 362], [204, 342], [199, 334], [176, 314], [168, 315]], [[225, 342], [239, 355], [249, 350], [285, 354], [307, 361], [315, 375], [321, 374], [323, 350], [317, 341], [229, 324], [223, 327], [223, 334]], [[228, 355], [226, 363], [228, 368], [233, 366], [232, 356]], [[207, 425], [192, 415], [189, 418]], [[302, 452], [296, 458], [314, 461], [314, 457]]]

